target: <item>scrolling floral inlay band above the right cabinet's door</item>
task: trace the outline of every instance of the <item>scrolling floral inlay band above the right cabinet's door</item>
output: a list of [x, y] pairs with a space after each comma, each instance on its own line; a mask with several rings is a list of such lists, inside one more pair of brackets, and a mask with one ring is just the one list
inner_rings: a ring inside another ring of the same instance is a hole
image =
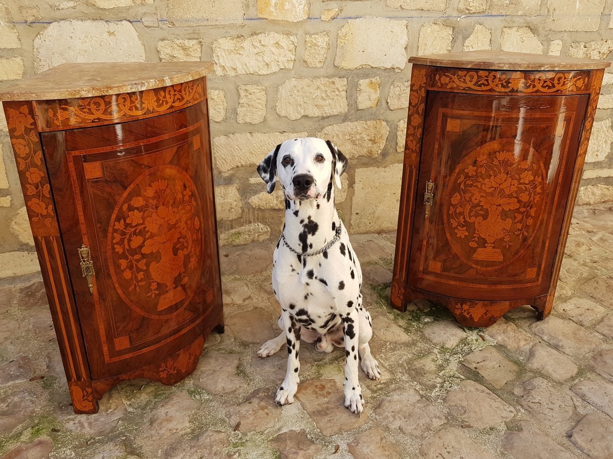
[[589, 91], [588, 77], [558, 72], [489, 72], [487, 70], [454, 70], [440, 72], [435, 85], [446, 89], [494, 91], [497, 93], [575, 93]]

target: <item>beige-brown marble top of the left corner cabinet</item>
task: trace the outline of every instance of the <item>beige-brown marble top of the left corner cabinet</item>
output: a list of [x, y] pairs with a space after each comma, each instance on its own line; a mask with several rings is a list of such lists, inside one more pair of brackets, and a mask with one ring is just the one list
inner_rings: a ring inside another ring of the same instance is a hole
[[48, 101], [132, 93], [204, 77], [213, 63], [61, 64], [32, 77], [0, 85], [1, 101]]

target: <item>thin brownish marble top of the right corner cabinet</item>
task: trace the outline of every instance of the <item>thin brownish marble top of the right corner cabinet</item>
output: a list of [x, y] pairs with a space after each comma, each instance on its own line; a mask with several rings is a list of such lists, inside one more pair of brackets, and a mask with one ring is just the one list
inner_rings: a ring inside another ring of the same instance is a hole
[[609, 61], [596, 59], [489, 50], [413, 56], [409, 62], [424, 66], [493, 70], [592, 70], [606, 69], [611, 65]]

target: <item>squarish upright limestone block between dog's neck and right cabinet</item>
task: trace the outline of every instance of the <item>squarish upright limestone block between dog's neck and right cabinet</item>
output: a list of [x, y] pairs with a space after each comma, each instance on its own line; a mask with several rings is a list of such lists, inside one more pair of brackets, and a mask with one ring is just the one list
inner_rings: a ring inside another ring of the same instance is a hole
[[352, 231], [372, 233], [396, 229], [401, 180], [402, 164], [356, 170]]

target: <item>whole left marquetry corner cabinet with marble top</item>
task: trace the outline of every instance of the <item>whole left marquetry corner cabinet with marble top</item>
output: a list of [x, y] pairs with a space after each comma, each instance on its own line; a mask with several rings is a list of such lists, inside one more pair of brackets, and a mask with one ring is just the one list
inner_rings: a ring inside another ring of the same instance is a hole
[[63, 64], [0, 90], [75, 412], [180, 381], [223, 332], [210, 69]]

